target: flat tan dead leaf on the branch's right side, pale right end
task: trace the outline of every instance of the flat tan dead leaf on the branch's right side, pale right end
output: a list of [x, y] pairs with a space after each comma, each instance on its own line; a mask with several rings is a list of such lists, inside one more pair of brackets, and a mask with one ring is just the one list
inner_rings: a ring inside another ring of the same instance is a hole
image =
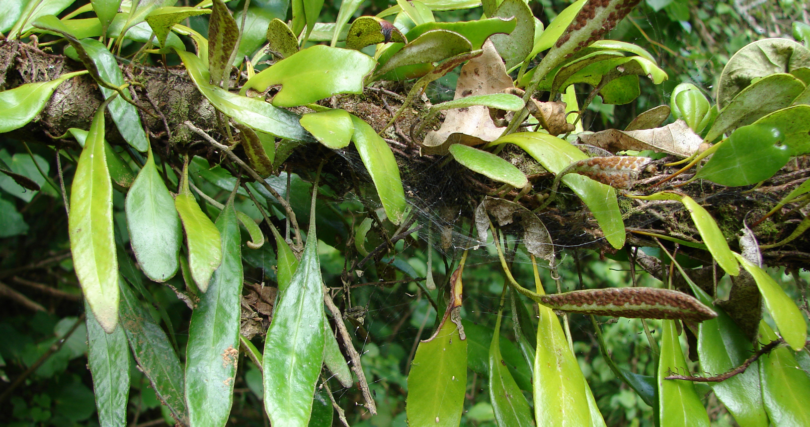
[[597, 133], [582, 133], [578, 138], [583, 144], [599, 146], [613, 153], [621, 150], [654, 150], [678, 157], [689, 157], [705, 150], [701, 146], [703, 138], [689, 129], [686, 122], [680, 119], [655, 129], [633, 131], [607, 129]]

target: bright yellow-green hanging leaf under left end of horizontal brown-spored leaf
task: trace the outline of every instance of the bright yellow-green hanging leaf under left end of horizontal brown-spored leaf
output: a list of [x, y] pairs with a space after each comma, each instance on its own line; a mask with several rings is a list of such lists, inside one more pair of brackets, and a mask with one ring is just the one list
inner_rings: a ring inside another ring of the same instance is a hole
[[560, 320], [539, 307], [534, 395], [537, 427], [593, 425], [588, 384], [565, 338]]

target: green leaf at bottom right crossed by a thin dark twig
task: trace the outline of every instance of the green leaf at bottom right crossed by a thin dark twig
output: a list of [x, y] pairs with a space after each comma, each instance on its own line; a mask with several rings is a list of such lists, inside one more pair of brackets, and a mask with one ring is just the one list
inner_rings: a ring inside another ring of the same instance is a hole
[[661, 427], [709, 427], [709, 416], [703, 408], [693, 383], [664, 379], [671, 373], [689, 372], [675, 320], [663, 320], [661, 355], [658, 367], [659, 414]]

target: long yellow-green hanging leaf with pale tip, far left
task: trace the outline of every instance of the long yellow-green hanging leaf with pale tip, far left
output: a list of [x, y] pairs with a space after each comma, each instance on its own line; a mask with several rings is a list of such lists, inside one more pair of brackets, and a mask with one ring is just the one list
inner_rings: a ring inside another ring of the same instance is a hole
[[104, 155], [104, 108], [93, 116], [70, 187], [70, 252], [84, 298], [107, 333], [118, 322], [118, 260], [113, 235], [113, 184]]

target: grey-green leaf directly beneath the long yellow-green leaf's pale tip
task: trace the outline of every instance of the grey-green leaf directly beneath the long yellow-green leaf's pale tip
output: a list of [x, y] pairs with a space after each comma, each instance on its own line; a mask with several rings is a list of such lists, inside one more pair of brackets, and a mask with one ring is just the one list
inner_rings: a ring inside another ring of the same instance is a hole
[[123, 328], [108, 334], [93, 317], [85, 302], [87, 313], [87, 366], [93, 375], [93, 391], [99, 424], [103, 427], [126, 425], [127, 395], [130, 391], [130, 347]]

